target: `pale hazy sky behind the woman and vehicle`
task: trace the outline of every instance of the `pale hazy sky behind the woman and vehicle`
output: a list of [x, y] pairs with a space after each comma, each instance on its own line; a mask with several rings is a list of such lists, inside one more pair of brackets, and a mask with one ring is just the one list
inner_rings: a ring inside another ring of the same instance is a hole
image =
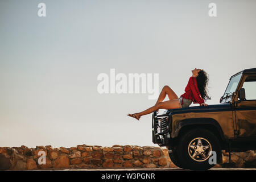
[[[38, 16], [39, 3], [46, 16]], [[151, 114], [140, 121], [126, 115], [156, 100], [148, 93], [100, 94], [98, 75], [159, 74], [159, 92], [168, 85], [180, 96], [191, 70], [200, 68], [209, 75], [206, 103], [219, 104], [229, 78], [256, 67], [255, 6], [0, 0], [0, 147], [157, 146]]]

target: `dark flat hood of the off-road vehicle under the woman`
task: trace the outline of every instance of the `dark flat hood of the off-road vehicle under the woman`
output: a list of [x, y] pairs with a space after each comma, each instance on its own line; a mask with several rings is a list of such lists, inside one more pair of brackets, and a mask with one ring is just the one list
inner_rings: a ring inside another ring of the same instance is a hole
[[179, 109], [170, 109], [165, 112], [165, 114], [175, 114], [175, 113], [189, 113], [189, 112], [208, 112], [208, 111], [228, 111], [232, 110], [231, 104], [214, 104], [208, 106], [191, 106], [182, 107]]

